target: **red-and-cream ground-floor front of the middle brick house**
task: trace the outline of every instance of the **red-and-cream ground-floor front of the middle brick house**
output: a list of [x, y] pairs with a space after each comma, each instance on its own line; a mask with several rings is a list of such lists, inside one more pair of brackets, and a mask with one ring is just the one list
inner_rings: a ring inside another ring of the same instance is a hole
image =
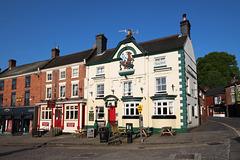
[[39, 103], [38, 128], [60, 127], [63, 132], [70, 133], [85, 128], [85, 106], [84, 100]]

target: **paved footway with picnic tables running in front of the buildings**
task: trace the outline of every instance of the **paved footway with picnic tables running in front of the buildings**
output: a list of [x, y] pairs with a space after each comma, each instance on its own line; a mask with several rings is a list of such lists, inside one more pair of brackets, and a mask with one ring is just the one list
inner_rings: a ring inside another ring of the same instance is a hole
[[[225, 144], [226, 139], [236, 137], [234, 132], [229, 132], [229, 128], [218, 130], [218, 123], [213, 125], [213, 122], [207, 122], [197, 128], [192, 129], [188, 133], [177, 133], [175, 136], [159, 136], [153, 134], [150, 137], [143, 137], [133, 139], [133, 143], [128, 144], [127, 138], [121, 137], [122, 143], [110, 144], [100, 143], [99, 135], [95, 138], [74, 138], [72, 134], [63, 134], [56, 137], [32, 137], [31, 135], [12, 136], [12, 135], [0, 135], [0, 146], [24, 146], [24, 147], [41, 147], [41, 146], [53, 146], [53, 147], [87, 147], [94, 146], [101, 147], [116, 147], [121, 148], [164, 148], [171, 147], [191, 147], [191, 146], [206, 146], [206, 145], [219, 145]], [[206, 136], [207, 135], [207, 136]], [[134, 136], [133, 136], [134, 137]]]

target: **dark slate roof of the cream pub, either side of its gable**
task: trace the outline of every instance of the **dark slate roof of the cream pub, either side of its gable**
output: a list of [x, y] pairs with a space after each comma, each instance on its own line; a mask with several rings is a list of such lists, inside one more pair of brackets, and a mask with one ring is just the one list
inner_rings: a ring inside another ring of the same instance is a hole
[[[134, 39], [134, 38], [133, 38]], [[187, 36], [179, 36], [178, 34], [159, 38], [155, 40], [150, 40], [146, 42], [137, 43], [142, 49], [149, 55], [154, 53], [167, 52], [172, 50], [177, 50], [183, 48], [185, 45]], [[126, 39], [127, 40], [127, 39]], [[123, 40], [125, 41], [125, 40]], [[134, 40], [135, 41], [135, 40]], [[101, 56], [98, 56], [95, 52], [92, 55], [92, 58], [89, 58], [87, 65], [98, 64], [110, 61], [112, 55], [114, 54], [115, 48], [108, 49]]]

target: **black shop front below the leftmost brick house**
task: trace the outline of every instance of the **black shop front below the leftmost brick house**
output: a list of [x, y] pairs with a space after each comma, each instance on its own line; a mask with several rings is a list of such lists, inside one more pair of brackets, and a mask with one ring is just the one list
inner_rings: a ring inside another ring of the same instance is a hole
[[0, 108], [0, 133], [22, 135], [32, 133], [35, 106]]

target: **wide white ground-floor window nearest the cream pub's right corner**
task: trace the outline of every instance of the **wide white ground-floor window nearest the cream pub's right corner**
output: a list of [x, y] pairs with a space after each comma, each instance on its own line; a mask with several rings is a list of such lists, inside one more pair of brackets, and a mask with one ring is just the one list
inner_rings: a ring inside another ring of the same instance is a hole
[[173, 100], [154, 101], [153, 115], [174, 115], [174, 101]]

